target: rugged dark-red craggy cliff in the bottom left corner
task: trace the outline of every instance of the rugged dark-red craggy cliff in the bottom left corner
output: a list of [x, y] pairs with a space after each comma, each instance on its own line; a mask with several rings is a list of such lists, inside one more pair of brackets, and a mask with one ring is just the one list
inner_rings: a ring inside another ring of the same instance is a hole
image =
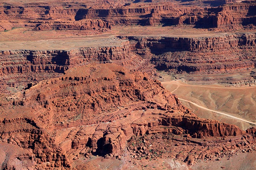
[[[29, 160], [34, 161], [35, 164], [46, 164], [51, 162], [52, 167], [70, 167], [67, 156], [63, 153], [62, 148], [55, 144], [54, 139], [45, 130], [42, 130], [36, 125], [36, 123], [28, 117], [22, 117], [22, 112], [19, 112], [21, 117], [15, 119], [4, 119], [0, 126], [5, 127], [1, 129], [1, 142], [18, 146], [25, 151], [31, 151], [26, 157], [21, 157], [21, 161], [27, 162]], [[25, 111], [31, 112], [26, 109]], [[16, 153], [17, 154], [17, 153]], [[17, 165], [10, 167], [11, 160], [4, 163], [6, 169], [17, 168]], [[45, 167], [43, 167], [45, 168]]]

